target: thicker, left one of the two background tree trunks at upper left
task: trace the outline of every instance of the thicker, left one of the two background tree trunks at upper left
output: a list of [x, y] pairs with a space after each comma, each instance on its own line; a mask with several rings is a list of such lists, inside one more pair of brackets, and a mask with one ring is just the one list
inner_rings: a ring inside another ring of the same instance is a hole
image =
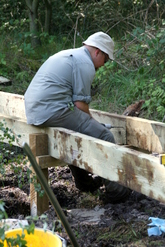
[[32, 46], [35, 47], [40, 45], [40, 39], [37, 37], [38, 33], [38, 5], [39, 0], [26, 0], [26, 5], [29, 10], [29, 20], [30, 20], [30, 32], [32, 34], [31, 43]]

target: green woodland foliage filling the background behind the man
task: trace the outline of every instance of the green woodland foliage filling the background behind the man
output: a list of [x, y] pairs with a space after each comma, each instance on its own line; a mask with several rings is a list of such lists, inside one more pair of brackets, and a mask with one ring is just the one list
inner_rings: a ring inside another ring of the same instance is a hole
[[[51, 1], [50, 33], [44, 31], [45, 5], [39, 3], [35, 33], [41, 44], [31, 45], [26, 1], [1, 1], [0, 75], [12, 80], [0, 90], [24, 94], [41, 64], [65, 48], [78, 47], [88, 35], [105, 31], [115, 41], [115, 61], [97, 71], [100, 94], [91, 107], [122, 113], [128, 104], [145, 99], [145, 117], [164, 114], [164, 1]], [[150, 81], [156, 82], [151, 89]], [[159, 88], [159, 89], [157, 89]], [[151, 93], [152, 91], [152, 93]], [[99, 102], [99, 104], [98, 104]], [[144, 116], [143, 116], [144, 117]]]

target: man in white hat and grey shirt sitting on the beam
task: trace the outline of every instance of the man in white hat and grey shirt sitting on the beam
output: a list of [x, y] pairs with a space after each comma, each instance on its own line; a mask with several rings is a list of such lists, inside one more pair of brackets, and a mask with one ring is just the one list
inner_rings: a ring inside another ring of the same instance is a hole
[[[95, 72], [109, 59], [113, 60], [113, 51], [111, 37], [97, 32], [89, 36], [82, 47], [49, 57], [25, 93], [27, 123], [63, 127], [115, 143], [113, 134], [93, 119], [89, 111]], [[90, 176], [75, 166], [70, 169], [79, 189], [94, 191], [101, 185], [100, 177]], [[109, 183], [112, 184], [108, 181], [108, 186]]]

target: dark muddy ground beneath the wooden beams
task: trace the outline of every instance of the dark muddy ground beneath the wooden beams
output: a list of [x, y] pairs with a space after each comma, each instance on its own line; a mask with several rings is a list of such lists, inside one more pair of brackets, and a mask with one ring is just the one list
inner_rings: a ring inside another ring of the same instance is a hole
[[[18, 181], [24, 178], [22, 188]], [[164, 235], [148, 236], [149, 217], [165, 219], [165, 205], [144, 195], [132, 192], [125, 202], [111, 204], [104, 197], [104, 188], [93, 194], [79, 191], [69, 167], [49, 168], [49, 184], [60, 203], [71, 229], [81, 247], [148, 247], [165, 246]], [[16, 176], [8, 169], [6, 178], [0, 179], [0, 200], [5, 202], [9, 218], [25, 219], [30, 215], [29, 190], [26, 166]], [[72, 246], [54, 208], [45, 212], [47, 228], [67, 240]], [[30, 223], [31, 221], [29, 221]], [[40, 218], [37, 227], [45, 224]]]

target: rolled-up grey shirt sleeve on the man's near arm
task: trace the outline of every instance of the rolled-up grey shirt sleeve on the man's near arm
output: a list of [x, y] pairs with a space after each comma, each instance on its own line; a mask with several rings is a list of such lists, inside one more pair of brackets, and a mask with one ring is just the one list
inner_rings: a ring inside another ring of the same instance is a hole
[[73, 102], [83, 101], [87, 104], [91, 102], [91, 84], [93, 82], [94, 76], [95, 69], [93, 64], [75, 64], [72, 78]]

